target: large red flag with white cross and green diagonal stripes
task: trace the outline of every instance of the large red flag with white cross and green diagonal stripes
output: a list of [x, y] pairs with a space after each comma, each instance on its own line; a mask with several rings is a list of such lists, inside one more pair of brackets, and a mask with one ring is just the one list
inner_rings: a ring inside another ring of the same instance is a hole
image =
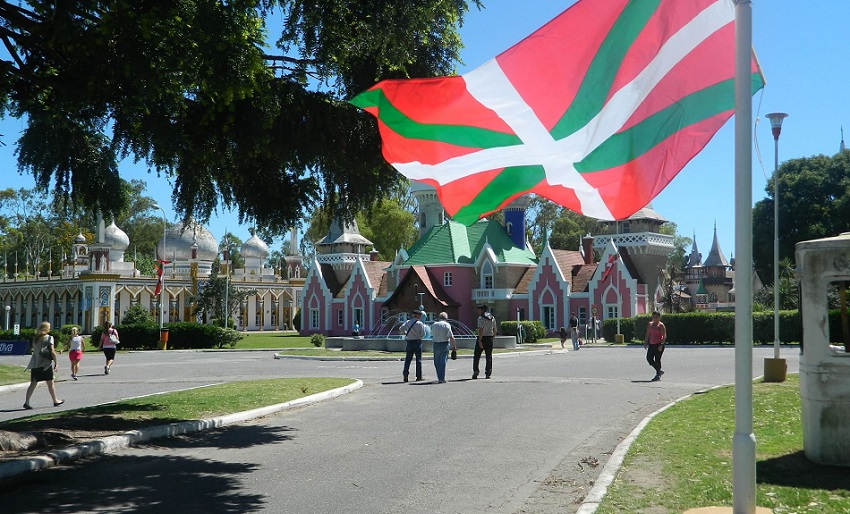
[[[580, 0], [469, 73], [383, 81], [351, 103], [459, 222], [526, 193], [611, 220], [732, 116], [734, 78], [733, 0]], [[753, 59], [753, 93], [763, 85]]]

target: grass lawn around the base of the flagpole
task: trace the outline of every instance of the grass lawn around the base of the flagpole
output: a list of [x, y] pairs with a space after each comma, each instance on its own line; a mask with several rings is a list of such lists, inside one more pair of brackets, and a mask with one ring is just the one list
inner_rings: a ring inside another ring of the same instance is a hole
[[[629, 449], [598, 514], [681, 513], [732, 505], [735, 389], [714, 389], [658, 414]], [[803, 455], [799, 376], [753, 385], [756, 503], [774, 514], [850, 513], [850, 469]]]

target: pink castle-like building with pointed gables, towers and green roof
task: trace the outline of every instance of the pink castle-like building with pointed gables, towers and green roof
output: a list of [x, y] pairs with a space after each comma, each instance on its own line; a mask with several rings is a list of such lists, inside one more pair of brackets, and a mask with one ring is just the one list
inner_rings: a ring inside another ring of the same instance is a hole
[[[585, 324], [592, 315], [606, 319], [660, 310], [660, 270], [674, 246], [673, 236], [660, 231], [667, 220], [651, 206], [607, 222], [605, 234], [585, 237], [576, 251], [546, 244], [535, 255], [525, 239], [528, 198], [504, 210], [504, 225], [483, 219], [465, 226], [447, 219], [433, 188], [414, 182], [411, 193], [419, 204], [420, 238], [392, 262], [367, 251], [371, 242], [356, 224], [334, 221], [305, 277], [302, 334], [351, 335], [355, 325], [369, 334], [391, 316], [403, 318], [420, 306], [427, 319], [445, 311], [475, 326], [476, 306], [485, 304], [499, 320], [539, 320], [550, 332], [567, 326], [573, 312]], [[731, 278], [724, 272], [723, 283], [715, 284], [717, 269], [706, 263], [691, 271], [725, 302], [729, 295], [721, 292], [733, 289]], [[696, 289], [690, 295], [684, 289], [689, 302], [691, 296], [702, 299]], [[710, 301], [694, 305], [710, 306]]]

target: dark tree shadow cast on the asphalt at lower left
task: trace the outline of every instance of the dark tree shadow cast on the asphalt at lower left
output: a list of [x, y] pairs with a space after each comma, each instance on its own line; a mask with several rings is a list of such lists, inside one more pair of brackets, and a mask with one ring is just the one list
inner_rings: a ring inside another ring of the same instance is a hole
[[170, 449], [242, 449], [293, 439], [287, 427], [225, 427], [139, 445], [144, 452], [95, 457], [22, 477], [0, 487], [4, 513], [41, 512], [257, 512], [264, 495], [246, 493], [242, 481], [257, 469], [243, 462], [184, 457]]

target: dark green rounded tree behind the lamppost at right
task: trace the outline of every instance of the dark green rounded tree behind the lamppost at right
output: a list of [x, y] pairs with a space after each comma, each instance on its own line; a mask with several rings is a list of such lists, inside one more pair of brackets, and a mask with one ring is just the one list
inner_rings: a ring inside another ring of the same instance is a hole
[[[759, 276], [773, 277], [773, 181], [753, 208], [753, 261]], [[793, 159], [779, 167], [779, 259], [795, 259], [800, 241], [850, 230], [850, 150], [832, 157]], [[771, 301], [772, 305], [773, 302]]]

